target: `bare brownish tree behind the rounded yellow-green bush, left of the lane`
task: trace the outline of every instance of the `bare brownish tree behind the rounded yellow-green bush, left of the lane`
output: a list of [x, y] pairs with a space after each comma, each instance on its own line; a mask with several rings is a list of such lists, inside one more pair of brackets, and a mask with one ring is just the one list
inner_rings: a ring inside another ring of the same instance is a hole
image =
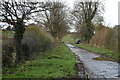
[[68, 21], [66, 19], [66, 8], [64, 3], [48, 2], [49, 10], [44, 12], [43, 24], [45, 28], [51, 33], [51, 35], [58, 41], [67, 32]]

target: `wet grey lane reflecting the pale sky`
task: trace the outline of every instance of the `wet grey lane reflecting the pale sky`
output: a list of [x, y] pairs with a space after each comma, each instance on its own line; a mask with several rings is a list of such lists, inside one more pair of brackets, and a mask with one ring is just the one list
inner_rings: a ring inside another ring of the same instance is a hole
[[[66, 46], [68, 46], [70, 50], [73, 51], [75, 56], [77, 56], [80, 59], [77, 61], [80, 61], [80, 63], [82, 62], [84, 68], [87, 71], [85, 72], [88, 73], [88, 76], [90, 78], [114, 78], [114, 80], [119, 80], [119, 68], [117, 62], [113, 62], [111, 60], [101, 57], [101, 55], [99, 54], [80, 49], [71, 44], [66, 43]], [[79, 74], [81, 74], [81, 72], [78, 72], [78, 75]]]

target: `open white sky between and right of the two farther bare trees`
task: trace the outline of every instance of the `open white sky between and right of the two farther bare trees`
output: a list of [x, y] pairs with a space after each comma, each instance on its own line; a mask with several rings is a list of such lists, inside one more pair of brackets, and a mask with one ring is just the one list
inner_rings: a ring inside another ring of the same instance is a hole
[[[76, 0], [62, 0], [66, 1], [68, 6], [73, 7]], [[101, 0], [102, 1], [102, 0]], [[118, 2], [120, 0], [103, 0], [105, 4], [105, 12], [103, 14], [105, 25], [114, 26], [118, 25]]]

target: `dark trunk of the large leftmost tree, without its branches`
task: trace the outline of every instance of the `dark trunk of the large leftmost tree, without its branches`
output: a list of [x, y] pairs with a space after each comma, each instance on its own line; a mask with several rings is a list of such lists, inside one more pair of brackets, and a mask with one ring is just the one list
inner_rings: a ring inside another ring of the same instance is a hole
[[24, 54], [22, 52], [22, 38], [25, 32], [25, 25], [19, 22], [15, 25], [15, 48], [16, 48], [16, 64], [20, 64], [24, 60]]

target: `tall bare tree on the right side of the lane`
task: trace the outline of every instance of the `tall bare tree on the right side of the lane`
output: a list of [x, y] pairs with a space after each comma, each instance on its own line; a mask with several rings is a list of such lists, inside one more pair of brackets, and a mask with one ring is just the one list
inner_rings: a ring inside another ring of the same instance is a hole
[[77, 28], [80, 30], [80, 36], [83, 41], [88, 41], [94, 34], [93, 18], [100, 11], [99, 2], [77, 2], [74, 6], [73, 14], [77, 20]]

